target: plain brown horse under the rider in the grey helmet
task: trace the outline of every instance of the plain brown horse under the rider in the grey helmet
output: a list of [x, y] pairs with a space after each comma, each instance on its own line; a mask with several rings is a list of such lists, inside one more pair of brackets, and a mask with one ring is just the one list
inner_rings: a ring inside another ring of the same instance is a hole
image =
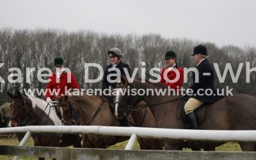
[[[66, 125], [74, 124], [74, 117], [76, 114], [81, 116], [83, 125], [103, 125], [103, 126], [121, 126], [120, 120], [116, 120], [115, 116], [109, 108], [109, 102], [106, 97], [98, 95], [87, 95], [85, 92], [74, 95], [63, 95], [56, 97], [58, 99], [58, 106], [61, 108], [61, 115], [63, 122]], [[149, 109], [142, 109], [136, 114], [142, 114], [143, 119], [139, 119], [140, 126], [150, 127], [154, 125], [154, 116], [150, 115]], [[141, 117], [141, 116], [140, 116]], [[150, 119], [151, 121], [146, 121]], [[129, 124], [136, 125], [132, 118], [127, 118]], [[107, 148], [110, 145], [115, 145], [120, 141], [128, 140], [124, 136], [102, 136], [96, 134], [84, 135], [85, 144], [83, 147], [87, 148]], [[138, 138], [141, 149], [163, 149], [162, 145], [156, 140], [148, 138]]]

